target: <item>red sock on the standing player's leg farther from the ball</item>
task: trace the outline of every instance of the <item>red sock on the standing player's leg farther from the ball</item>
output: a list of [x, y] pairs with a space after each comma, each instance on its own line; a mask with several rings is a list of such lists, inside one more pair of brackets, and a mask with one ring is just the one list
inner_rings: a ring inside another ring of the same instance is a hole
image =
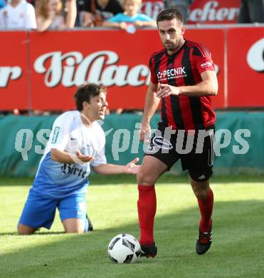
[[213, 191], [209, 190], [206, 200], [199, 200], [198, 204], [201, 212], [200, 230], [208, 232], [211, 230], [212, 225], [212, 212], [213, 212]]

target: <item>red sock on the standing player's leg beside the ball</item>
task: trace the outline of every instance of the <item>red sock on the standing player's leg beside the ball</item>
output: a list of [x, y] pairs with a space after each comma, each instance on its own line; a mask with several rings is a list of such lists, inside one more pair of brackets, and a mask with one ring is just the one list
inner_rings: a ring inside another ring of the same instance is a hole
[[154, 185], [139, 185], [139, 200], [137, 201], [137, 212], [139, 215], [140, 240], [142, 245], [154, 243], [153, 227], [156, 214], [157, 200]]

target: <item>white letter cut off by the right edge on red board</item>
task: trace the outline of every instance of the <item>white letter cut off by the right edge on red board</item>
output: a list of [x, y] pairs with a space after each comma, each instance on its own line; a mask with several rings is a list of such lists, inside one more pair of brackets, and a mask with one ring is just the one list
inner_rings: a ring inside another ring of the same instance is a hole
[[264, 73], [264, 38], [256, 41], [249, 48], [247, 61], [250, 68], [254, 71]]

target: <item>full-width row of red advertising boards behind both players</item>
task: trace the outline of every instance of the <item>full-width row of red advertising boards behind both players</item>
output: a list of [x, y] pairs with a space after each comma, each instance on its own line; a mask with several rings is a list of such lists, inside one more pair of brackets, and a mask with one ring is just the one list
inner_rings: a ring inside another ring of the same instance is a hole
[[[187, 29], [211, 51], [218, 75], [214, 108], [264, 107], [264, 27]], [[0, 110], [68, 110], [84, 81], [107, 87], [110, 109], [142, 109], [157, 30], [1, 32]], [[249, 95], [250, 93], [250, 95]], [[249, 97], [250, 96], [250, 97]]]

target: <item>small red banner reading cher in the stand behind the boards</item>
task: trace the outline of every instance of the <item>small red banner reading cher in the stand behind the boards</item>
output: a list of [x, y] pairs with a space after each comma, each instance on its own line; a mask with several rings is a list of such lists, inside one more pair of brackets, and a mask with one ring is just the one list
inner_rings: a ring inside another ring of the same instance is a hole
[[190, 6], [188, 24], [236, 24], [241, 0], [199, 0]]

